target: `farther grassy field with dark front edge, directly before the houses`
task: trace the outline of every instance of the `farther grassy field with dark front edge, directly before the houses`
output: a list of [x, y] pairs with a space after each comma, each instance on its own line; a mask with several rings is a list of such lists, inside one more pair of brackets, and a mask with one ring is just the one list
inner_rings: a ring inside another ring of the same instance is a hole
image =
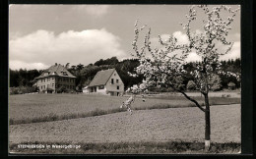
[[[120, 105], [128, 98], [120, 96], [85, 94], [23, 94], [9, 96], [9, 119], [11, 125], [37, 122], [61, 121], [123, 112]], [[200, 104], [204, 99], [194, 97]], [[210, 97], [211, 105], [236, 104], [240, 98]], [[135, 99], [135, 110], [193, 107], [192, 102], [178, 95], [155, 95]]]

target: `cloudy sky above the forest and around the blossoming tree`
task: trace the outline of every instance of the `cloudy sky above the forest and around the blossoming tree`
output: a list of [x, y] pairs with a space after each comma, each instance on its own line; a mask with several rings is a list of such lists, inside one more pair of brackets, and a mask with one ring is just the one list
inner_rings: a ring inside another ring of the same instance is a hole
[[[116, 56], [131, 58], [134, 25], [151, 27], [151, 40], [173, 34], [186, 41], [180, 23], [186, 23], [189, 5], [10, 5], [9, 67], [47, 69], [55, 63], [89, 65]], [[209, 6], [210, 8], [213, 6]], [[238, 5], [230, 5], [232, 9]], [[202, 16], [199, 14], [199, 20]], [[194, 27], [200, 29], [200, 23]], [[222, 60], [240, 57], [240, 14], [228, 39], [233, 47]], [[143, 36], [143, 34], [142, 34]], [[143, 39], [141, 39], [143, 40]], [[199, 60], [195, 53], [190, 61]]]

